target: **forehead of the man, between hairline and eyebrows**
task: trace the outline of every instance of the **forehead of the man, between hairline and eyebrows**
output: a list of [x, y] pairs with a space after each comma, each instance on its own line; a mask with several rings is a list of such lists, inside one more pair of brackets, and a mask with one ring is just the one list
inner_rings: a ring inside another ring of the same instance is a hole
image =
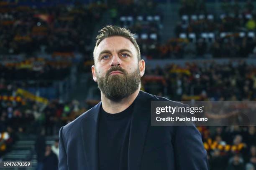
[[111, 52], [117, 52], [118, 50], [121, 50], [121, 49], [127, 49], [133, 52], [134, 55], [136, 54], [136, 48], [129, 39], [121, 36], [113, 36], [113, 37], [105, 38], [100, 42], [100, 44], [95, 49], [95, 55], [96, 57], [98, 57], [100, 52], [103, 50], [110, 50]]

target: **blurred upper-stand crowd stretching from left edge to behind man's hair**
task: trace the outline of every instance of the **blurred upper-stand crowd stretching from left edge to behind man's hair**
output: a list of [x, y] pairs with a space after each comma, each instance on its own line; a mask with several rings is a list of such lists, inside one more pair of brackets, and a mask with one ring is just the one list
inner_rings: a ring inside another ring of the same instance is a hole
[[[79, 2], [46, 7], [24, 7], [13, 3], [0, 5], [0, 29], [3, 32], [0, 35], [0, 54], [25, 53], [30, 56], [38, 52], [79, 52], [88, 57], [92, 53], [96, 22], [100, 21], [103, 13], [109, 15], [112, 24], [126, 26], [136, 32], [141, 46], [157, 43], [161, 37], [161, 13], [153, 1], [119, 1], [109, 3], [109, 6]], [[159, 17], [157, 21], [154, 20], [155, 15]], [[120, 21], [121, 16], [133, 17], [133, 23], [124, 25]], [[138, 16], [142, 20], [138, 20]], [[153, 19], [149, 21], [147, 16]], [[148, 37], [141, 37], [143, 33]], [[153, 38], [151, 33], [154, 33]]]

